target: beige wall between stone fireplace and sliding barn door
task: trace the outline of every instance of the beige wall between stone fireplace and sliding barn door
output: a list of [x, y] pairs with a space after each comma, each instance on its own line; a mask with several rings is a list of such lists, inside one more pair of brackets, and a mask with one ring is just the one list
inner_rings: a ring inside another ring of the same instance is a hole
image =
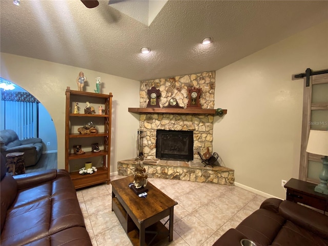
[[327, 23], [216, 71], [215, 108], [228, 114], [215, 117], [213, 149], [237, 185], [285, 198], [281, 179], [298, 178], [303, 80], [291, 78], [306, 68], [328, 68]]

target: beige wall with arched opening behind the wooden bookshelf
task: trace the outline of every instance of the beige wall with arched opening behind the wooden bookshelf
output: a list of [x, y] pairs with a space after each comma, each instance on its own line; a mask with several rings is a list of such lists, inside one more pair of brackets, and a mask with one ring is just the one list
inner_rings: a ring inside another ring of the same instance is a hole
[[84, 71], [89, 80], [87, 91], [95, 89], [95, 78], [104, 83], [102, 93], [113, 93], [111, 173], [117, 171], [117, 161], [136, 156], [136, 132], [139, 115], [128, 107], [139, 106], [139, 81], [99, 73], [44, 60], [1, 53], [1, 77], [33, 94], [50, 113], [57, 132], [58, 168], [65, 168], [65, 90], [76, 90], [76, 77]]

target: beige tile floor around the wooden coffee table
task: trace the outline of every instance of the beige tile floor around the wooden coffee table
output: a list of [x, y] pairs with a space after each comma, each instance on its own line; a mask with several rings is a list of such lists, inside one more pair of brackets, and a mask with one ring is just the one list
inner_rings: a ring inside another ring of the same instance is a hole
[[[111, 180], [125, 176], [112, 176]], [[257, 210], [266, 198], [235, 186], [149, 178], [178, 204], [174, 207], [173, 241], [160, 245], [209, 246]], [[77, 191], [80, 208], [94, 246], [130, 246], [111, 204], [112, 186]]]

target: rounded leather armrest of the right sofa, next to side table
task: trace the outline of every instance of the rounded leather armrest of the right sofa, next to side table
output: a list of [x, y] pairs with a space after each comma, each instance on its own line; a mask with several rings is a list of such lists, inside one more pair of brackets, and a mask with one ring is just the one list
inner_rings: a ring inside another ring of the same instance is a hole
[[328, 239], [328, 216], [287, 200], [281, 202], [279, 214], [299, 227]]

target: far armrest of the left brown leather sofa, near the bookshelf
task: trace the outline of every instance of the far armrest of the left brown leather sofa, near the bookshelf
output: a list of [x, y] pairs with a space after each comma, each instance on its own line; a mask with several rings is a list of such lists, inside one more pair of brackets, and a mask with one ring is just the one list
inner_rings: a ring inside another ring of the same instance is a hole
[[57, 177], [57, 170], [50, 169], [35, 173], [15, 175], [13, 177], [17, 181], [18, 190], [20, 190], [55, 179]]

